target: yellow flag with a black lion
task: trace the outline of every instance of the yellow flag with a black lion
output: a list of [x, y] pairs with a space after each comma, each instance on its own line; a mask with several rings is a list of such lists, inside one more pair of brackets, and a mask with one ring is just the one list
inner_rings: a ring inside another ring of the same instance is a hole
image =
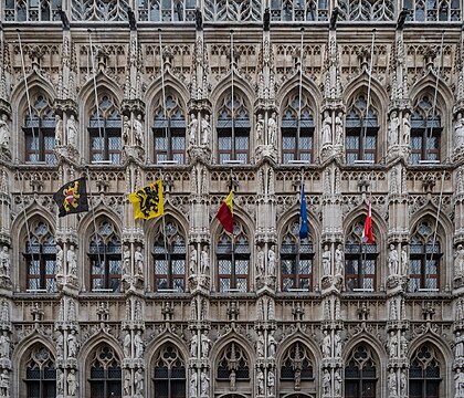
[[136, 219], [149, 220], [162, 216], [165, 213], [162, 181], [158, 180], [130, 193], [129, 200], [134, 206]]

